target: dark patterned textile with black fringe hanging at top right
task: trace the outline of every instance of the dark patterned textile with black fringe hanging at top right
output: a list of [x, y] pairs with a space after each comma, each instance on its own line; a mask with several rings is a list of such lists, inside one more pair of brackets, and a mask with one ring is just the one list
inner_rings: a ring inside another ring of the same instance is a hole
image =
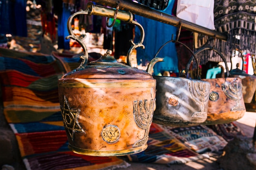
[[[256, 0], [216, 0], [214, 4], [214, 25], [216, 31], [227, 33], [227, 41], [200, 35], [198, 44], [209, 44], [221, 51], [227, 62], [234, 49], [247, 50], [255, 54], [256, 47]], [[240, 39], [238, 39], [240, 38]], [[207, 59], [207, 56], [210, 56]], [[214, 61], [215, 55], [206, 54], [200, 56], [202, 61]]]

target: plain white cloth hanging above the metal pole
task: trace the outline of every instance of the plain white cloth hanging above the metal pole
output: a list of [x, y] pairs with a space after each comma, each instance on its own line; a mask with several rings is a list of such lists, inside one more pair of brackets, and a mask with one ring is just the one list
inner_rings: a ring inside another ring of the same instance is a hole
[[214, 0], [178, 0], [176, 16], [214, 30]]

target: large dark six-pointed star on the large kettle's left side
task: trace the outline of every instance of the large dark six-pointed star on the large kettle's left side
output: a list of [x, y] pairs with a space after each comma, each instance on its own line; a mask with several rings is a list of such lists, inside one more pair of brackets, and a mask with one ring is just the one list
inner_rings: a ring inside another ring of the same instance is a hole
[[74, 132], [84, 132], [82, 127], [79, 125], [78, 117], [80, 110], [79, 109], [71, 109], [70, 105], [67, 102], [66, 96], [63, 97], [63, 107], [61, 106], [61, 114], [63, 117], [64, 128], [67, 130], [71, 139], [74, 140]]

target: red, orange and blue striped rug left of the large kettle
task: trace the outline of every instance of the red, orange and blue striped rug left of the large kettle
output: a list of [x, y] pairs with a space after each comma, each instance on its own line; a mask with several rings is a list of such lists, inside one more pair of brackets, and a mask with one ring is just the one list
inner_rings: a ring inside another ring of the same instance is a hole
[[75, 154], [68, 142], [58, 102], [57, 81], [65, 69], [51, 55], [0, 49], [4, 115], [16, 135], [28, 170], [126, 168], [117, 157]]

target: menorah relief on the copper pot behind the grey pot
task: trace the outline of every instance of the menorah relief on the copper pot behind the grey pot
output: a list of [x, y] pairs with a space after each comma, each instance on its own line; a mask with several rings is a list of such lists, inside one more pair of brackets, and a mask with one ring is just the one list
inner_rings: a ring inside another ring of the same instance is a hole
[[221, 87], [229, 99], [236, 101], [236, 106], [234, 106], [231, 111], [245, 110], [245, 107], [241, 105], [241, 99], [243, 99], [242, 83], [238, 82], [237, 78], [235, 78], [232, 82], [225, 81]]

